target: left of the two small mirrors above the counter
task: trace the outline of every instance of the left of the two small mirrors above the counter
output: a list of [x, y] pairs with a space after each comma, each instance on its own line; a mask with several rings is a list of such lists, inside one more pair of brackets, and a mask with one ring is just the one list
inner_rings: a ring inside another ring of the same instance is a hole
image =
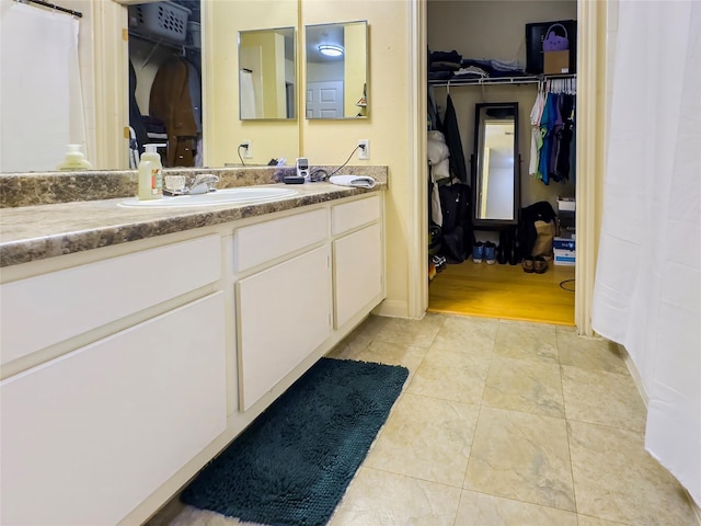
[[239, 32], [239, 118], [295, 119], [295, 28]]

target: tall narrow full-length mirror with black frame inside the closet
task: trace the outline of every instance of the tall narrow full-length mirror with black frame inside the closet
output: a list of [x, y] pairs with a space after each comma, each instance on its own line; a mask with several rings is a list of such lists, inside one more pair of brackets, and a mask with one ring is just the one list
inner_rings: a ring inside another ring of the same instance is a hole
[[475, 227], [518, 224], [518, 103], [475, 104], [472, 203]]

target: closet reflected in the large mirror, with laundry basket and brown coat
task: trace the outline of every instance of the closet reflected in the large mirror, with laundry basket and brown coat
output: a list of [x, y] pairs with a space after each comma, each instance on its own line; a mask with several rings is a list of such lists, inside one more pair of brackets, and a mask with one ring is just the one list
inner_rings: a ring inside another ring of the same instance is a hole
[[158, 144], [164, 167], [202, 167], [200, 0], [128, 12], [130, 164]]

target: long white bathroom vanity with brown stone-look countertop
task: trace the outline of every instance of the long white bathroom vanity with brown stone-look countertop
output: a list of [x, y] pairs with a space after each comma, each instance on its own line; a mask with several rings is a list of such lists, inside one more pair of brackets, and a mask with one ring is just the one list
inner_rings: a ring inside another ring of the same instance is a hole
[[3, 524], [140, 524], [383, 299], [386, 183], [298, 186], [3, 209]]

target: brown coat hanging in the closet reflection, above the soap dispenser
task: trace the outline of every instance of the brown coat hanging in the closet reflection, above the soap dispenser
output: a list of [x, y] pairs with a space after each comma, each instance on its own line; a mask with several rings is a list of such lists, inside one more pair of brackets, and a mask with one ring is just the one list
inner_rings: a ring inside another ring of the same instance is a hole
[[193, 167], [197, 148], [197, 123], [189, 96], [189, 66], [182, 58], [166, 60], [151, 85], [149, 114], [168, 130], [165, 167]]

